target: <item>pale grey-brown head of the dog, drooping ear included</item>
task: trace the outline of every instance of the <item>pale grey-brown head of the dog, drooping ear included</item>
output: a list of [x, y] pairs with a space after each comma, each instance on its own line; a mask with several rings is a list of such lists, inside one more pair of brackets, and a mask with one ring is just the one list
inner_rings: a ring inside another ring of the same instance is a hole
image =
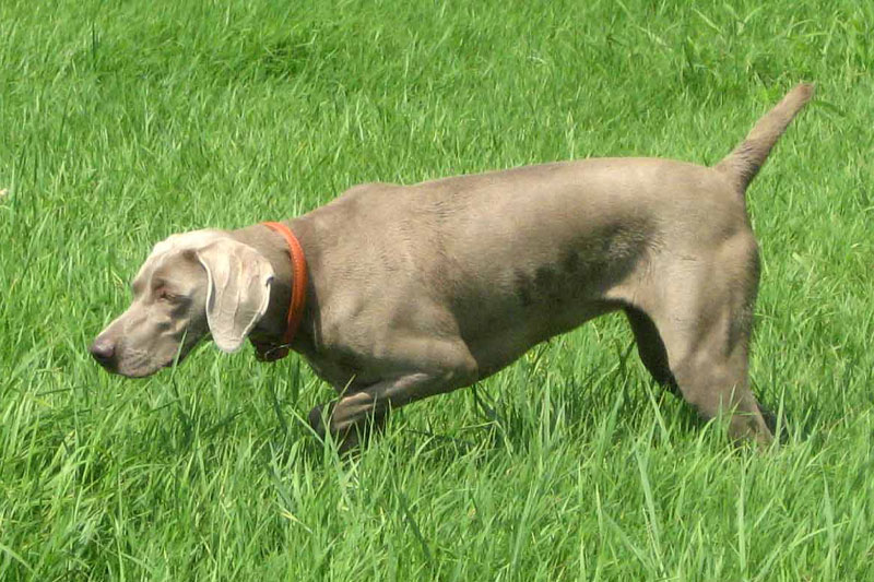
[[150, 376], [181, 360], [205, 335], [239, 348], [263, 317], [273, 269], [221, 230], [174, 235], [155, 245], [133, 280], [133, 301], [88, 351], [107, 370]]

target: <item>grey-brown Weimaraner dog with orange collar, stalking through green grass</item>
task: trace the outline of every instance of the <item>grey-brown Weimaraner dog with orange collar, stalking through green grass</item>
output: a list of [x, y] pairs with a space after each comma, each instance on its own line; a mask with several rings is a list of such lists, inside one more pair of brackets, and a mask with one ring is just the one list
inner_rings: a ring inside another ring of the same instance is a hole
[[657, 381], [705, 418], [723, 414], [732, 438], [768, 443], [747, 371], [759, 263], [745, 191], [812, 95], [793, 88], [713, 167], [591, 158], [367, 183], [286, 222], [287, 235], [170, 236], [91, 354], [143, 377], [206, 335], [224, 352], [249, 337], [261, 359], [291, 347], [339, 393], [314, 428], [354, 443], [390, 408], [622, 309]]

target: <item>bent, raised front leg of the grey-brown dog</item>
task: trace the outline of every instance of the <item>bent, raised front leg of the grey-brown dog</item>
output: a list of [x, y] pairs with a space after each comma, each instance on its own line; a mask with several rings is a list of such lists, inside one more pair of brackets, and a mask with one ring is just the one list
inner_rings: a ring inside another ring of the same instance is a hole
[[309, 424], [321, 437], [330, 431], [341, 443], [341, 451], [345, 451], [362, 442], [370, 432], [382, 428], [391, 408], [459, 388], [462, 385], [459, 381], [456, 375], [426, 372], [383, 380], [312, 408]]

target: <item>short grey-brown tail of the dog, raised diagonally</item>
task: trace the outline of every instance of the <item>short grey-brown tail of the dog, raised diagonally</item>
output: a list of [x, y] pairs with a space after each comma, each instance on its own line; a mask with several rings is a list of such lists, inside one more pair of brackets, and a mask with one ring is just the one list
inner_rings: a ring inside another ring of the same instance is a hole
[[773, 144], [811, 97], [813, 97], [813, 84], [802, 83], [795, 86], [783, 100], [756, 122], [746, 139], [714, 168], [728, 175], [739, 192], [745, 192], [746, 187], [768, 158]]

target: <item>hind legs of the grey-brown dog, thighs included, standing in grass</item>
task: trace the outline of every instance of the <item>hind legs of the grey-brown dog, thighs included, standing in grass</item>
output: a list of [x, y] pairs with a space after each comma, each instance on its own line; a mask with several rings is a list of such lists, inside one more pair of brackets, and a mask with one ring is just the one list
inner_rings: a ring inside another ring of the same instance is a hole
[[770, 442], [748, 379], [755, 241], [736, 236], [706, 260], [674, 260], [662, 275], [645, 305], [626, 308], [647, 369], [702, 417], [729, 416], [732, 438]]

